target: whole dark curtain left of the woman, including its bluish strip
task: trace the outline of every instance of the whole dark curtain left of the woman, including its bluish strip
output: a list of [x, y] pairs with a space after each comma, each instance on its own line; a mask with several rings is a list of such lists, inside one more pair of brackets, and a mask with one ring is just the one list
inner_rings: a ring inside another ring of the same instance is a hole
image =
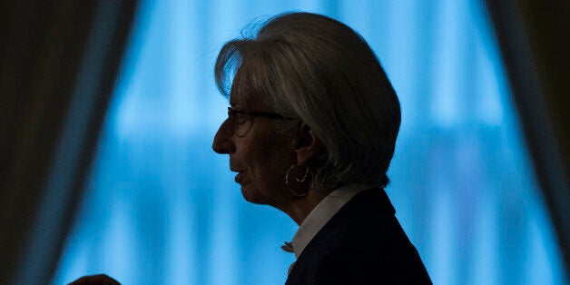
[[0, 283], [48, 283], [136, 1], [0, 4]]

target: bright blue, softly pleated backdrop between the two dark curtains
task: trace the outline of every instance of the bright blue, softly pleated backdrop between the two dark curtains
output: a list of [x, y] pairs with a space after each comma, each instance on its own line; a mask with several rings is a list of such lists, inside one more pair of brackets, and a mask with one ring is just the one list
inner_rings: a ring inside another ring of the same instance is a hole
[[402, 103], [387, 192], [435, 284], [565, 284], [488, 15], [476, 0], [143, 1], [53, 284], [283, 284], [297, 226], [243, 201], [211, 141], [221, 45], [254, 19], [329, 15]]

